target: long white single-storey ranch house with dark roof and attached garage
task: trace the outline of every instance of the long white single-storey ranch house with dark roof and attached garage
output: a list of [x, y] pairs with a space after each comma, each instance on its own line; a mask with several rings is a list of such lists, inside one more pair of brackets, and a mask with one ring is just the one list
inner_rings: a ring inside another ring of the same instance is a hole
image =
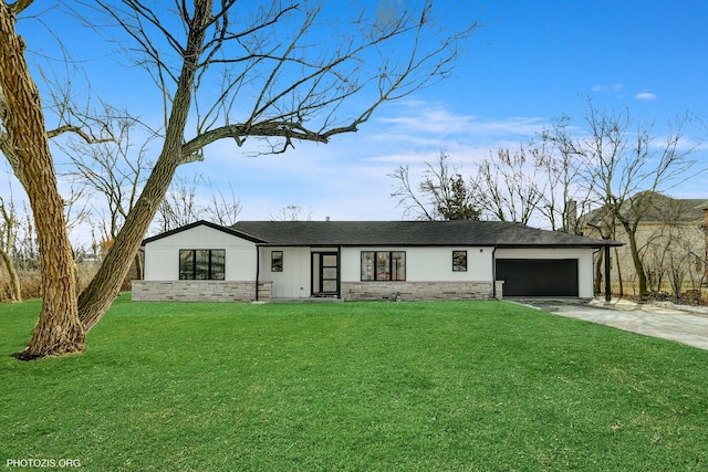
[[148, 238], [134, 301], [593, 296], [604, 241], [498, 221], [207, 221]]

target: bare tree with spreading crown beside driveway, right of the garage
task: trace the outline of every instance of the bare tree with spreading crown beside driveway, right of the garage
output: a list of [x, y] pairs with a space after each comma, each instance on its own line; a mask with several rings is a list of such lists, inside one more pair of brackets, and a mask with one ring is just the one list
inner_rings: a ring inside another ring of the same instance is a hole
[[690, 149], [679, 147], [686, 120], [678, 118], [660, 141], [653, 125], [635, 123], [628, 112], [597, 109], [587, 99], [582, 130], [571, 128], [565, 119], [552, 132], [553, 141], [581, 160], [582, 181], [604, 214], [626, 233], [641, 296], [648, 289], [636, 238], [638, 224], [656, 192], [679, 182], [696, 164]]

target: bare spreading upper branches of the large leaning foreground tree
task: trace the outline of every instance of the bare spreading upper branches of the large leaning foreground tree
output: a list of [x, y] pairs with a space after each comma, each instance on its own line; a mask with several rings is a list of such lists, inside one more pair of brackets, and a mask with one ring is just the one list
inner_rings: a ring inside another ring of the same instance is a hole
[[[122, 9], [100, 4], [135, 42], [136, 63], [149, 71], [170, 106], [179, 75], [175, 54], [187, 59], [184, 38], [197, 28], [194, 12], [183, 1], [171, 11], [139, 0], [123, 0]], [[239, 145], [253, 137], [275, 139], [280, 145], [270, 151], [282, 153], [293, 140], [326, 143], [356, 132], [382, 104], [446, 77], [476, 28], [440, 34], [429, 0], [418, 10], [326, 8], [268, 2], [249, 11], [229, 0], [212, 9], [199, 25], [205, 41], [195, 51], [197, 126], [188, 147], [217, 136]], [[335, 17], [332, 24], [335, 14], [345, 18]], [[367, 105], [352, 113], [343, 105], [354, 95]]]

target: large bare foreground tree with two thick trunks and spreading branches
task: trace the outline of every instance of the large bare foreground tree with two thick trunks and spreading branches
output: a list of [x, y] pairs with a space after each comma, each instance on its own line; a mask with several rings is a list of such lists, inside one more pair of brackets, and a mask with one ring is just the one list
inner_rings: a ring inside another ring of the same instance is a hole
[[[86, 3], [123, 29], [132, 41], [127, 51], [138, 51], [136, 62], [163, 94], [165, 130], [136, 204], [76, 300], [42, 102], [15, 32], [18, 14], [32, 3], [0, 2], [1, 149], [32, 206], [44, 287], [22, 359], [83, 352], [85, 333], [117, 295], [178, 166], [202, 159], [204, 148], [223, 138], [238, 146], [263, 139], [267, 151], [283, 153], [298, 140], [326, 144], [356, 132], [382, 104], [447, 76], [475, 29], [441, 33], [429, 0], [420, 9], [400, 3], [385, 14], [363, 11], [337, 24], [319, 3], [266, 2], [253, 11], [236, 0]], [[196, 123], [194, 132], [188, 123]]]

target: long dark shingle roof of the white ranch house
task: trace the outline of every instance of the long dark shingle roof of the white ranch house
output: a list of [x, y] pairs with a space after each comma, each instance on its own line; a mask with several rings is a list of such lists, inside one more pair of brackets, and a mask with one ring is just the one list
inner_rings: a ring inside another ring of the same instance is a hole
[[231, 230], [269, 245], [601, 248], [621, 244], [503, 221], [239, 221]]

